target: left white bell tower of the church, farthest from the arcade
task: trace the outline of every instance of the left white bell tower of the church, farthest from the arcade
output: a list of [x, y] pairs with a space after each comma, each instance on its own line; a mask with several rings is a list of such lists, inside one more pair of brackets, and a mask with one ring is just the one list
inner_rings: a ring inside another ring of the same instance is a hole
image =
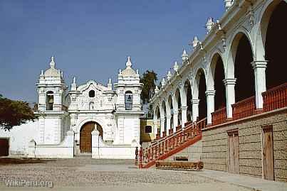
[[51, 57], [50, 67], [41, 70], [38, 83], [38, 127], [40, 144], [58, 144], [64, 136], [63, 121], [66, 116], [64, 99], [66, 85], [63, 72], [56, 69], [55, 58]]

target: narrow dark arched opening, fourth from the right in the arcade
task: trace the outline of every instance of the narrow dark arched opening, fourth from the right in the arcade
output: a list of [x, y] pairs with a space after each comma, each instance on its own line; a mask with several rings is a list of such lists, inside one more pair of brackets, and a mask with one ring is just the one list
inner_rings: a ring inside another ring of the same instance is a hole
[[204, 70], [200, 69], [197, 75], [199, 77], [199, 120], [201, 120], [207, 117], [207, 96], [205, 94], [207, 92], [207, 81], [205, 80]]

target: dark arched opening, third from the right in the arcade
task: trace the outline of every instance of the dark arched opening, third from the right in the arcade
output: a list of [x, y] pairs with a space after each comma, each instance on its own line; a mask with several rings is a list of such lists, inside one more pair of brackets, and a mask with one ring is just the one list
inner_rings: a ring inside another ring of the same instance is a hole
[[220, 55], [215, 55], [212, 62], [213, 77], [214, 77], [214, 110], [226, 107], [226, 91], [223, 80], [224, 65]]

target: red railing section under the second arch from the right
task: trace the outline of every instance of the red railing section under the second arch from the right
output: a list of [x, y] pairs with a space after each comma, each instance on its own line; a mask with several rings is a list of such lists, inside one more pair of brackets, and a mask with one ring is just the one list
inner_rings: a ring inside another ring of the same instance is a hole
[[249, 97], [240, 102], [232, 104], [233, 119], [242, 119], [256, 114], [255, 97]]

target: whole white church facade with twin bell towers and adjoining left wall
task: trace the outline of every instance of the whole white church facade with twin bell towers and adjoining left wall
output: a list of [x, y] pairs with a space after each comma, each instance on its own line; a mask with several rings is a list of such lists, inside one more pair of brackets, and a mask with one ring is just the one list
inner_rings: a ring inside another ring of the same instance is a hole
[[[56, 68], [41, 71], [38, 92], [38, 119], [0, 131], [9, 140], [9, 154], [31, 158], [135, 158], [140, 146], [140, 105], [142, 84], [138, 70], [132, 69], [130, 57], [118, 73], [118, 82], [104, 86], [93, 80], [71, 88], [63, 72]], [[114, 87], [114, 88], [113, 88]]]

